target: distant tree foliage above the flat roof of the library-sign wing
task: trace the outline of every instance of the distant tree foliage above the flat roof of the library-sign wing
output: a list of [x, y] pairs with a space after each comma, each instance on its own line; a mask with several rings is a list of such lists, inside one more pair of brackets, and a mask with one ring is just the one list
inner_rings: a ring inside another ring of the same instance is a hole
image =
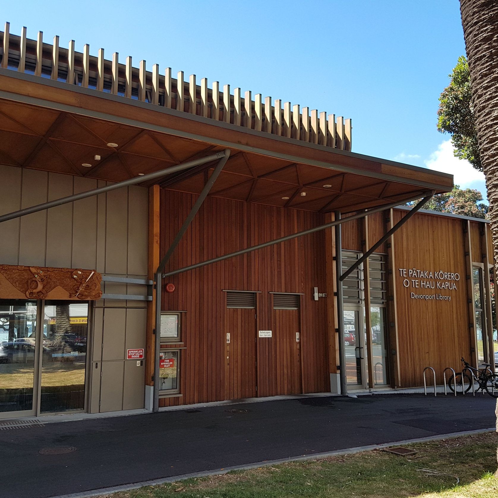
[[[489, 206], [481, 202], [482, 200], [483, 194], [479, 190], [471, 188], [463, 190], [459, 185], [454, 185], [451, 192], [435, 195], [427, 202], [424, 209], [486, 219]], [[407, 205], [414, 206], [417, 202], [410, 202]]]

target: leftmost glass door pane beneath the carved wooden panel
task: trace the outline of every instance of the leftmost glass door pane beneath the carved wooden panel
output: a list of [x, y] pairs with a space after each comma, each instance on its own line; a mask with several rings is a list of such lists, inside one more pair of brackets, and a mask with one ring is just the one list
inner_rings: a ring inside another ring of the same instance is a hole
[[36, 301], [0, 302], [0, 412], [33, 409]]

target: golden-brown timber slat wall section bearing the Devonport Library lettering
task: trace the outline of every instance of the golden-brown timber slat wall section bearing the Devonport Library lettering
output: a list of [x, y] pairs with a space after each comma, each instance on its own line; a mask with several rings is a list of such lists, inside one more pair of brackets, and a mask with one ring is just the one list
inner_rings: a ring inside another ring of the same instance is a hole
[[[394, 223], [405, 214], [394, 210]], [[400, 387], [422, 385], [428, 366], [441, 384], [446, 367], [459, 372], [462, 356], [471, 362], [463, 227], [459, 219], [417, 214], [394, 234]]]

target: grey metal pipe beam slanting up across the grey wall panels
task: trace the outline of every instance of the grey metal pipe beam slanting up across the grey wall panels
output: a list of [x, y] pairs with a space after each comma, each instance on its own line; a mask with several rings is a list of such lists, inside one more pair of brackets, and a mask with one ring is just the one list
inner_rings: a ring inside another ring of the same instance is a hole
[[170, 173], [176, 173], [177, 171], [182, 171], [184, 169], [192, 168], [198, 166], [199, 164], [204, 164], [206, 162], [215, 161], [216, 159], [223, 159], [225, 157], [225, 152], [218, 152], [217, 154], [212, 154], [200, 159], [195, 159], [193, 161], [188, 161], [183, 164], [177, 164], [176, 166], [170, 166], [166, 169], [161, 169], [154, 173], [148, 173], [143, 176], [137, 176], [124, 180], [122, 182], [113, 183], [112, 185], [106, 185], [105, 187], [96, 188], [93, 190], [88, 190], [87, 192], [81, 192], [80, 194], [74, 194], [67, 197], [62, 197], [61, 199], [55, 199], [50, 202], [44, 202], [43, 204], [38, 204], [30, 208], [21, 209], [19, 211], [14, 211], [12, 213], [7, 213], [0, 216], [0, 223], [7, 220], [13, 220], [14, 218], [19, 218], [24, 215], [29, 215], [31, 213], [36, 213], [38, 211], [43, 211], [44, 209], [53, 208], [55, 206], [61, 206], [62, 204], [68, 204], [69, 202], [78, 201], [79, 199], [85, 199], [87, 197], [92, 197], [94, 195], [102, 194], [103, 192], [109, 192], [110, 190], [116, 190], [121, 187], [126, 187], [128, 185], [135, 185], [136, 183], [141, 183], [147, 180], [153, 180], [155, 178], [160, 178]]

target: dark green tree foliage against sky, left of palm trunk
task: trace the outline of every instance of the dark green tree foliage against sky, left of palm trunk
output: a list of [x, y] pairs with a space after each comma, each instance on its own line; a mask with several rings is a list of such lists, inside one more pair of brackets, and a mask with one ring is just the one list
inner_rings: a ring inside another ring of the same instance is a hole
[[466, 159], [474, 168], [483, 171], [472, 109], [469, 64], [465, 56], [458, 58], [458, 64], [449, 77], [451, 83], [439, 97], [437, 128], [452, 135], [456, 157]]

